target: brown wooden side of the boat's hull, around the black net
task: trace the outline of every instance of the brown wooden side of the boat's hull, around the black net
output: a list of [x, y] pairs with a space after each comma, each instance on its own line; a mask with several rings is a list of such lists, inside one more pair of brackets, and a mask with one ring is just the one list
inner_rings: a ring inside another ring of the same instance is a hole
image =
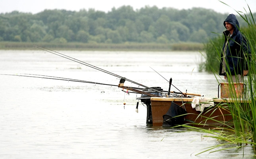
[[[229, 108], [223, 103], [230, 101], [224, 101], [223, 99], [212, 99], [214, 106], [204, 108], [204, 111], [196, 111], [191, 106], [193, 98], [163, 98], [163, 97], [151, 97], [151, 110], [152, 110], [152, 126], [162, 126], [163, 115], [169, 110], [171, 103], [183, 107], [187, 111], [185, 116], [185, 124], [189, 124], [195, 127], [203, 126], [220, 126], [225, 124], [233, 125], [233, 118], [230, 114]], [[209, 118], [212, 118], [209, 120]]]

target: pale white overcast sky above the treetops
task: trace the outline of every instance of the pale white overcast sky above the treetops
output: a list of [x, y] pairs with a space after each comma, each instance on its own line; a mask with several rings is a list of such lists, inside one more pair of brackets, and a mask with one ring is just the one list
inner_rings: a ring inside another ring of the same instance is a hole
[[[235, 10], [246, 13], [249, 5], [252, 13], [256, 12], [256, 0], [0, 0], [0, 13], [20, 11], [25, 13], [39, 13], [44, 9], [65, 9], [79, 11], [80, 9], [93, 8], [96, 11], [111, 11], [113, 7], [132, 6], [134, 10], [145, 6], [173, 7], [176, 9], [190, 9], [203, 7], [213, 9], [219, 13], [237, 14]], [[246, 3], [247, 2], [247, 3]]]

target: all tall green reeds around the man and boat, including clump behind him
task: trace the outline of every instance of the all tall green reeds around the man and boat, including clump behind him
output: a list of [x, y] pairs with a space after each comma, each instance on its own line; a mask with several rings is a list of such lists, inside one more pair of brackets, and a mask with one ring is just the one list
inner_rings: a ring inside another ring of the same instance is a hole
[[[248, 6], [249, 10], [250, 7]], [[248, 24], [246, 28], [241, 28], [241, 32], [244, 37], [248, 40], [248, 46], [251, 49], [251, 54], [245, 54], [245, 57], [249, 64], [249, 73], [246, 80], [244, 81], [246, 87], [244, 88], [243, 95], [236, 93], [235, 84], [228, 80], [228, 87], [230, 90], [229, 99], [232, 102], [224, 102], [222, 104], [227, 105], [230, 110], [230, 115], [233, 118], [233, 126], [229, 126], [223, 123], [222, 127], [213, 127], [211, 129], [201, 129], [198, 127], [192, 127], [189, 125], [183, 125], [189, 127], [192, 130], [207, 133], [206, 137], [216, 138], [223, 140], [222, 144], [206, 148], [203, 152], [215, 152], [220, 150], [226, 150], [225, 145], [233, 145], [228, 148], [241, 148], [243, 146], [252, 145], [254, 152], [256, 153], [256, 24], [252, 13], [243, 14], [238, 12], [239, 16]], [[239, 28], [240, 29], [240, 28]], [[216, 37], [205, 44], [206, 49], [206, 62], [205, 69], [208, 72], [213, 72], [216, 80], [218, 80], [219, 64], [221, 60], [221, 48], [224, 43], [223, 36]], [[250, 56], [250, 60], [248, 60]], [[227, 67], [229, 68], [229, 67]], [[226, 70], [230, 72], [230, 70]], [[223, 79], [223, 78], [222, 78]], [[218, 81], [219, 83], [225, 82], [223, 80]], [[211, 120], [210, 118], [208, 120]], [[221, 146], [224, 146], [221, 148]], [[216, 150], [218, 148], [218, 150]], [[201, 152], [201, 153], [203, 153]], [[198, 153], [200, 154], [200, 153]]]

